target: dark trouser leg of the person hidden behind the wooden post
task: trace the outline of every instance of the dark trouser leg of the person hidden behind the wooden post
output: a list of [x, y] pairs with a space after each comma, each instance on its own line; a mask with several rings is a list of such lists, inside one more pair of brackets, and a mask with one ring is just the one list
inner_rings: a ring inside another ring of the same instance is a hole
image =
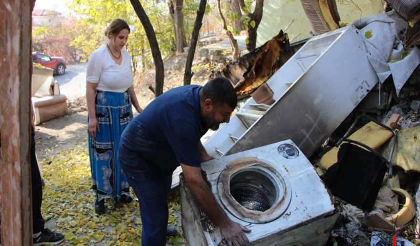
[[38, 233], [44, 228], [45, 221], [41, 214], [42, 181], [35, 156], [35, 132], [31, 129], [32, 227], [33, 233]]

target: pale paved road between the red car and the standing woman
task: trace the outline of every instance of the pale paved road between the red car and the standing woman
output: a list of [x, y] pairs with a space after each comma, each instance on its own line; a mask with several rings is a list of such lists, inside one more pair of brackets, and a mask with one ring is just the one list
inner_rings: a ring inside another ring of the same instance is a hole
[[67, 65], [63, 75], [54, 76], [54, 79], [60, 85], [60, 93], [66, 95], [68, 100], [85, 96], [86, 66], [87, 63]]

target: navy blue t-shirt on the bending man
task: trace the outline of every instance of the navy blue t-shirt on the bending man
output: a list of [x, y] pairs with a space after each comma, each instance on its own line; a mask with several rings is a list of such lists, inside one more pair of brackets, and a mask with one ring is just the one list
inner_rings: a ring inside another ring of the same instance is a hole
[[150, 102], [124, 130], [125, 152], [139, 155], [162, 173], [172, 172], [179, 163], [200, 167], [197, 146], [208, 130], [200, 120], [201, 88], [180, 86]]

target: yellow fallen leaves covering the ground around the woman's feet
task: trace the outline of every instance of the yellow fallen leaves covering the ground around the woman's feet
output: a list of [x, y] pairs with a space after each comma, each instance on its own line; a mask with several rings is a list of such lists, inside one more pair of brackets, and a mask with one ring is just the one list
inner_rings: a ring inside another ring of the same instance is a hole
[[[53, 225], [53, 230], [65, 235], [62, 245], [141, 245], [142, 225], [137, 202], [114, 204], [106, 200], [106, 213], [94, 212], [95, 194], [91, 189], [87, 143], [47, 152], [50, 154], [40, 163], [45, 182], [42, 215], [47, 225]], [[135, 198], [132, 191], [131, 196]], [[180, 228], [179, 192], [169, 197], [168, 207], [169, 225]], [[179, 236], [168, 238], [168, 245], [185, 245], [181, 230]]]

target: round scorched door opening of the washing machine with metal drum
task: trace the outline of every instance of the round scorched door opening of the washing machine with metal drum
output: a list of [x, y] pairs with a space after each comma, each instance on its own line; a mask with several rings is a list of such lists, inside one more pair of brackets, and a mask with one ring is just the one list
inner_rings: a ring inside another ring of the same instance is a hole
[[280, 217], [291, 200], [287, 177], [267, 161], [243, 158], [228, 164], [220, 173], [218, 194], [236, 218], [250, 223], [267, 223]]

